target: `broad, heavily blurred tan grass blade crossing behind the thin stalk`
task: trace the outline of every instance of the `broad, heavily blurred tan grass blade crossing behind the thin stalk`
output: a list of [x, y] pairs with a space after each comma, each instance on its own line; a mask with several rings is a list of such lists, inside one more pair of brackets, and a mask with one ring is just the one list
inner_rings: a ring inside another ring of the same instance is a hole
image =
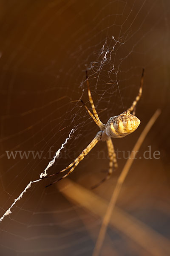
[[[65, 179], [56, 185], [60, 192], [67, 199], [74, 202], [74, 204], [83, 207], [88, 212], [91, 212], [92, 215], [95, 214], [100, 218], [103, 218], [105, 215], [108, 202], [94, 194], [91, 190], [85, 189], [69, 179]], [[115, 207], [111, 213], [109, 225], [134, 241], [139, 245], [138, 248], [146, 250], [147, 255], [170, 255], [169, 240], [167, 238], [118, 207]], [[114, 250], [115, 248], [113, 248], [113, 252], [115, 252]], [[138, 250], [136, 251], [136, 255], [140, 255]]]

